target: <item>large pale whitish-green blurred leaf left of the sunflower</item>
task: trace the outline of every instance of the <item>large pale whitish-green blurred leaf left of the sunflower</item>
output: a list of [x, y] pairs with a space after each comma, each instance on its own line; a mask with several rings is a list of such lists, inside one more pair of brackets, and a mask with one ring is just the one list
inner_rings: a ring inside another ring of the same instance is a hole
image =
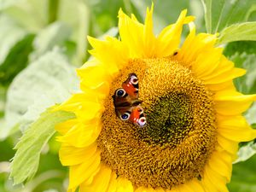
[[61, 51], [54, 49], [33, 61], [10, 85], [5, 108], [9, 132], [17, 124], [26, 130], [45, 108], [67, 100], [78, 90], [79, 79]]

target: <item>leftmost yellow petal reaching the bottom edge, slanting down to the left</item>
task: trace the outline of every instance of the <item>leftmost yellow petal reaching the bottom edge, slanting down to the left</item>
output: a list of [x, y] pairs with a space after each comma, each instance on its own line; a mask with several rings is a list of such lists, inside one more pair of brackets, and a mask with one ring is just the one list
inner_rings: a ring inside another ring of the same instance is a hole
[[81, 183], [95, 176], [99, 171], [101, 163], [101, 152], [98, 150], [93, 156], [84, 160], [82, 164], [70, 166], [68, 189], [76, 189]]

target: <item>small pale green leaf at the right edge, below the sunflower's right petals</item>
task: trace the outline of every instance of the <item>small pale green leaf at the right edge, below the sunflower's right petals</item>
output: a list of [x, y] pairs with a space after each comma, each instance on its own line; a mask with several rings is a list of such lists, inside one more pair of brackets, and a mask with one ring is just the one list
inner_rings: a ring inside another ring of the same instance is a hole
[[256, 143], [254, 142], [247, 143], [245, 146], [242, 146], [241, 148], [239, 148], [238, 158], [234, 163], [248, 160], [253, 156], [253, 154], [256, 154]]

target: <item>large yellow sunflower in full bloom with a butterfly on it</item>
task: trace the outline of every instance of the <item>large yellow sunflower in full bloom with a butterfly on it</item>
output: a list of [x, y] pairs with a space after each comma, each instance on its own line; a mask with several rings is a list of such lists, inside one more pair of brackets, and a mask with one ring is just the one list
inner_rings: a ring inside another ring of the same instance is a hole
[[[196, 34], [186, 12], [155, 36], [153, 6], [144, 24], [119, 10], [119, 39], [88, 38], [81, 91], [59, 108], [76, 119], [56, 126], [69, 191], [228, 191], [238, 143], [256, 137], [241, 115], [256, 95], [236, 90], [245, 70], [215, 47], [217, 34]], [[127, 80], [136, 96], [122, 89]], [[143, 125], [128, 119], [137, 108]]]

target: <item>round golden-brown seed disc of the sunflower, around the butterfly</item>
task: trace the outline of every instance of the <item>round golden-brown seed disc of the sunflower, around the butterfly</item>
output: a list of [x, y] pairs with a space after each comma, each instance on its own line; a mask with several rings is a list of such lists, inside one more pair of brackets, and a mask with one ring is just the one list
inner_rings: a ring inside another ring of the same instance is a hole
[[[122, 121], [113, 93], [136, 73], [146, 126]], [[102, 114], [102, 162], [135, 186], [171, 189], [200, 178], [216, 143], [212, 92], [173, 58], [131, 60], [113, 80]]]

